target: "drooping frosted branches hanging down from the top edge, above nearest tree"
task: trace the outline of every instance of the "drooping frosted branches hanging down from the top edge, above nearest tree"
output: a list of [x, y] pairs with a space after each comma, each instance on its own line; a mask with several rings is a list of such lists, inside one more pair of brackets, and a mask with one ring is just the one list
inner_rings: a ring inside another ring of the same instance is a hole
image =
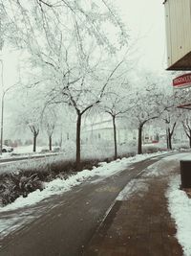
[[64, 72], [62, 50], [72, 44], [82, 59], [92, 39], [111, 54], [127, 44], [127, 32], [112, 1], [1, 0], [0, 6], [7, 42], [28, 52], [34, 66], [54, 72]]

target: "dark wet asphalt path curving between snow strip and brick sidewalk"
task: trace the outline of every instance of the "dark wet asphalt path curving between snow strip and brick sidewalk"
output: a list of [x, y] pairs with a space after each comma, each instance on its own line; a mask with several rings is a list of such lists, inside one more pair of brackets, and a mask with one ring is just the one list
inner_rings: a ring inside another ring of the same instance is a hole
[[0, 256], [82, 255], [117, 194], [132, 178], [161, 158], [133, 164], [99, 182], [91, 179], [45, 202], [43, 216], [1, 241]]

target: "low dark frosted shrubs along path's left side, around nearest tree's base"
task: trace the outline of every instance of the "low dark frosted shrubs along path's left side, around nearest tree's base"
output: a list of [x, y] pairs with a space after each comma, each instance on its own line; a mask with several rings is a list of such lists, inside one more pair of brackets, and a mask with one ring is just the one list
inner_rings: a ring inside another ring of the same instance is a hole
[[[98, 160], [83, 160], [81, 169], [93, 169]], [[10, 167], [10, 166], [9, 166]], [[7, 205], [21, 196], [27, 197], [31, 192], [44, 189], [44, 183], [56, 178], [67, 179], [75, 174], [74, 160], [65, 160], [59, 157], [41, 159], [40, 162], [11, 166], [10, 172], [0, 175], [0, 204]]]

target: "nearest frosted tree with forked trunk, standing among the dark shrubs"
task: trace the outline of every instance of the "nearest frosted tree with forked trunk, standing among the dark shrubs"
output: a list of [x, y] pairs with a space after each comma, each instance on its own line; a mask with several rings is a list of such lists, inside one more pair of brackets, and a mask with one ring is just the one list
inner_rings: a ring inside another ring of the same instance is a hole
[[[56, 87], [54, 93], [48, 94], [47, 105], [63, 104], [69, 105], [76, 114], [76, 169], [80, 169], [80, 134], [82, 117], [93, 107], [98, 105], [105, 95], [107, 85], [113, 79], [122, 61], [112, 67], [111, 70], [102, 71], [98, 65], [94, 69], [85, 69], [81, 78], [70, 83], [67, 90]], [[80, 71], [82, 72], [82, 71]], [[70, 77], [68, 75], [68, 81]]]

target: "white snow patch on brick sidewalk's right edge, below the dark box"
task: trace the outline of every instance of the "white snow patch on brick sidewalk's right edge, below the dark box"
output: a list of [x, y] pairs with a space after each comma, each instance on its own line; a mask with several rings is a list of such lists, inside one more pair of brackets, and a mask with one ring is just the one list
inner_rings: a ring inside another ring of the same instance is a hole
[[180, 175], [174, 176], [166, 193], [168, 209], [177, 225], [177, 238], [184, 256], [191, 256], [191, 199], [180, 190]]

